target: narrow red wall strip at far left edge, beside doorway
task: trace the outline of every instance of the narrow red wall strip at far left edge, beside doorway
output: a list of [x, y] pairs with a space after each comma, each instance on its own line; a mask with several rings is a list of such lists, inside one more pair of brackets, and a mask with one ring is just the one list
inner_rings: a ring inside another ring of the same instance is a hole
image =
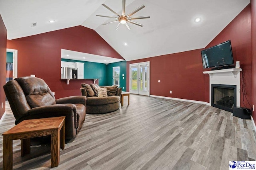
[[7, 30], [0, 14], [0, 119], [5, 112], [5, 94], [3, 86], [6, 80], [6, 39]]

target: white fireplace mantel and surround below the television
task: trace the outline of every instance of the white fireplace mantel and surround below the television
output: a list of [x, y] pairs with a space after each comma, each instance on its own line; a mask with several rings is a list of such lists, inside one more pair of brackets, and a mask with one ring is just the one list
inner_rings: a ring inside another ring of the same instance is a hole
[[222, 70], [204, 71], [210, 75], [210, 104], [212, 103], [212, 84], [226, 84], [236, 86], [236, 106], [240, 106], [240, 72], [242, 68], [228, 68]]

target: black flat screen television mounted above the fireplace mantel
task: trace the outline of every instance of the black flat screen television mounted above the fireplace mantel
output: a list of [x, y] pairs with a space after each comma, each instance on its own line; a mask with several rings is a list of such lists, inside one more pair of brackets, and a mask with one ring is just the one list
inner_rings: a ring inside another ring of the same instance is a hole
[[221, 69], [234, 65], [230, 40], [201, 51], [204, 68]]

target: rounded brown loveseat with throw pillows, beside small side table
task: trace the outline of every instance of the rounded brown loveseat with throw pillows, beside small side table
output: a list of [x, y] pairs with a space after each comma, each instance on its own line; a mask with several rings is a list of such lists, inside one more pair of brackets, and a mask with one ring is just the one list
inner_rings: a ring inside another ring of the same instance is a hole
[[[122, 88], [116, 88], [116, 92], [113, 96], [108, 97], [98, 97], [95, 96], [95, 93], [90, 88], [88, 84], [81, 84], [80, 88], [82, 96], [86, 96], [86, 113], [98, 114], [98, 113], [109, 113], [116, 111], [120, 107], [120, 98], [122, 93]], [[101, 86], [102, 87], [102, 86]], [[112, 86], [106, 86], [102, 88], [111, 88]]]

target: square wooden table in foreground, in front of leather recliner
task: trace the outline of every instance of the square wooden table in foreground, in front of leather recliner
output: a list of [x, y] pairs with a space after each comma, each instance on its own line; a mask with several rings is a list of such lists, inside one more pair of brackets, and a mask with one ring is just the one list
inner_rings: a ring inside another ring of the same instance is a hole
[[30, 119], [20, 122], [2, 134], [3, 169], [12, 170], [12, 141], [21, 139], [21, 156], [30, 153], [30, 138], [51, 135], [51, 166], [60, 163], [60, 148], [65, 147], [65, 116]]

